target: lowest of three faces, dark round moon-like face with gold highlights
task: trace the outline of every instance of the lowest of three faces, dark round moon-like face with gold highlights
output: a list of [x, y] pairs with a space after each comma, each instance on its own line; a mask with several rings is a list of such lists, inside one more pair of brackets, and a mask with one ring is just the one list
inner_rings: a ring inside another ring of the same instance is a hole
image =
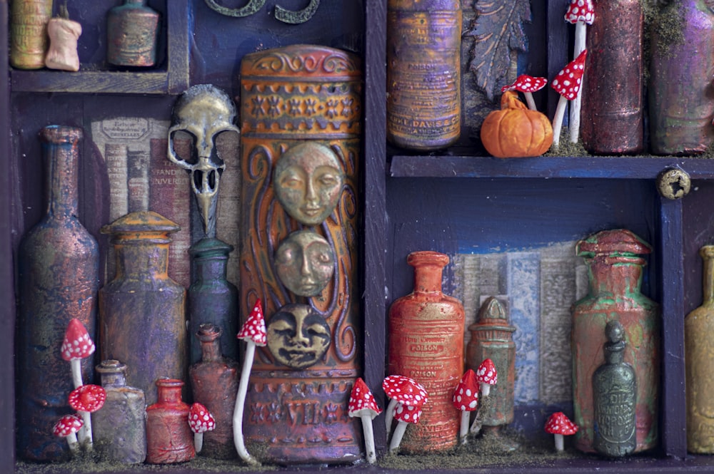
[[268, 323], [268, 349], [293, 369], [316, 364], [330, 346], [330, 326], [306, 304], [287, 304]]

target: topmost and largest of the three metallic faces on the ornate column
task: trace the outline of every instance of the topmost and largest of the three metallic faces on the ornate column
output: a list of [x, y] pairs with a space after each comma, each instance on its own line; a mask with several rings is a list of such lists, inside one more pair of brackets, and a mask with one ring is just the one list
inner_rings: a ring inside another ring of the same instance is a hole
[[344, 180], [335, 153], [325, 145], [307, 142], [278, 159], [273, 189], [293, 219], [318, 225], [335, 209]]

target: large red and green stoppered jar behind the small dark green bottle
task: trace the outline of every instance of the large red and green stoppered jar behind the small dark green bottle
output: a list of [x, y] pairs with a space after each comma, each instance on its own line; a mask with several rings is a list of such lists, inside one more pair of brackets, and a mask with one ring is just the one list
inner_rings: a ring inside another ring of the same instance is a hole
[[575, 447], [593, 452], [593, 373], [604, 360], [605, 325], [618, 320], [628, 341], [624, 360], [637, 377], [637, 448], [658, 442], [660, 403], [660, 310], [640, 292], [649, 244], [629, 230], [605, 230], [580, 240], [578, 255], [585, 257], [590, 291], [573, 305], [573, 409]]

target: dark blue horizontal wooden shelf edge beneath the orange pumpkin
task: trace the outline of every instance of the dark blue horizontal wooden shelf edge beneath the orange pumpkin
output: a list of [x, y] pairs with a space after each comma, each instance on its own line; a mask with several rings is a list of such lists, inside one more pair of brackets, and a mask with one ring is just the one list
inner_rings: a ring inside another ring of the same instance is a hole
[[394, 155], [391, 177], [513, 177], [655, 179], [680, 168], [692, 179], [714, 177], [714, 160], [673, 157], [534, 157]]

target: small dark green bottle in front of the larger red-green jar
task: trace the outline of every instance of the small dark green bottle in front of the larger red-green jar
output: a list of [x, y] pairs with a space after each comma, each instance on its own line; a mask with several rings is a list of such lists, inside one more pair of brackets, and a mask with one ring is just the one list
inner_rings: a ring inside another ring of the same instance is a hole
[[635, 450], [637, 379], [624, 361], [625, 329], [620, 321], [610, 321], [605, 336], [605, 364], [593, 373], [593, 445], [598, 453], [618, 458]]

